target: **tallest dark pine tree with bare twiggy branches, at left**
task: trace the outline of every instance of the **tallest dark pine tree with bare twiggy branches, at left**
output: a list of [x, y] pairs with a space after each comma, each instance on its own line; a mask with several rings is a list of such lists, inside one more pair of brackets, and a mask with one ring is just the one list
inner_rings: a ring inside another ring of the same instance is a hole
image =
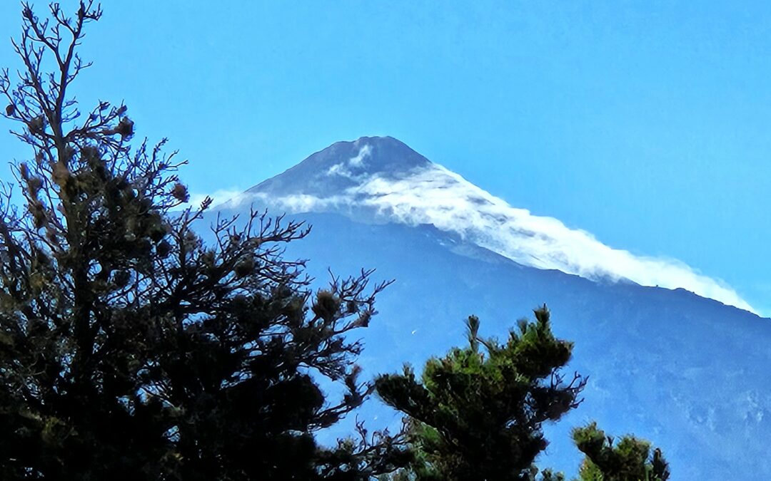
[[345, 334], [385, 284], [362, 272], [314, 296], [282, 256], [308, 229], [264, 212], [217, 219], [204, 242], [211, 201], [175, 210], [185, 162], [166, 141], [133, 142], [125, 105], [81, 115], [68, 94], [99, 5], [22, 9], [21, 80], [0, 75], [33, 153], [13, 165], [21, 205], [9, 184], [0, 200], [0, 477], [368, 479], [404, 463], [387, 433], [313, 436], [372, 391]]

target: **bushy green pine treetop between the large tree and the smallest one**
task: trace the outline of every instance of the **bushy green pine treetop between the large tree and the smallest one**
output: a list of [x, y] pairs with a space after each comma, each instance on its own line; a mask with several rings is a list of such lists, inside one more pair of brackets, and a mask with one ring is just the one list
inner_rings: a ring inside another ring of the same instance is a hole
[[[480, 481], [534, 479], [533, 462], [547, 446], [543, 423], [557, 421], [581, 403], [586, 379], [564, 382], [560, 369], [572, 344], [551, 332], [546, 306], [535, 322], [520, 320], [506, 342], [479, 336], [471, 316], [469, 346], [430, 359], [420, 379], [380, 376], [379, 396], [407, 415], [416, 460], [403, 479]], [[543, 473], [544, 479], [562, 479]], [[392, 479], [399, 479], [394, 477]]]

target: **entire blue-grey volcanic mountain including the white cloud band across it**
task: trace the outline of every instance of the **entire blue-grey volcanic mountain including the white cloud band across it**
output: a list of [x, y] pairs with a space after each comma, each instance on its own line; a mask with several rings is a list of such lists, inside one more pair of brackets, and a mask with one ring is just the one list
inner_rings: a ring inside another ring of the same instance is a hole
[[[514, 208], [391, 138], [338, 142], [210, 215], [254, 204], [313, 225], [287, 256], [319, 282], [328, 268], [396, 279], [363, 332], [368, 375], [462, 344], [470, 314], [503, 337], [546, 302], [589, 383], [540, 466], [576, 473], [569, 431], [597, 419], [655, 441], [672, 479], [771, 479], [771, 322], [729, 287]], [[397, 421], [376, 399], [359, 416]]]

